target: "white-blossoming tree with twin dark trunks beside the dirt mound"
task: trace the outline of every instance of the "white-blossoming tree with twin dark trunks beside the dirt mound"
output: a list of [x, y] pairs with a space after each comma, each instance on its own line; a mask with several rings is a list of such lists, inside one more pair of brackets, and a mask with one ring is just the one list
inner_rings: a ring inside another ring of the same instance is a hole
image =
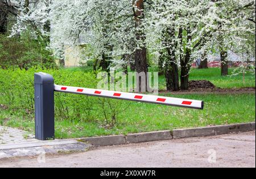
[[[148, 16], [151, 26], [147, 39], [158, 42], [156, 49], [165, 58], [164, 69], [168, 90], [179, 90], [179, 70], [181, 90], [188, 90], [191, 64], [205, 50], [212, 32], [209, 10], [212, 1], [154, 1], [154, 10]], [[151, 44], [151, 42], [149, 42]], [[151, 44], [153, 45], [153, 44]]]

